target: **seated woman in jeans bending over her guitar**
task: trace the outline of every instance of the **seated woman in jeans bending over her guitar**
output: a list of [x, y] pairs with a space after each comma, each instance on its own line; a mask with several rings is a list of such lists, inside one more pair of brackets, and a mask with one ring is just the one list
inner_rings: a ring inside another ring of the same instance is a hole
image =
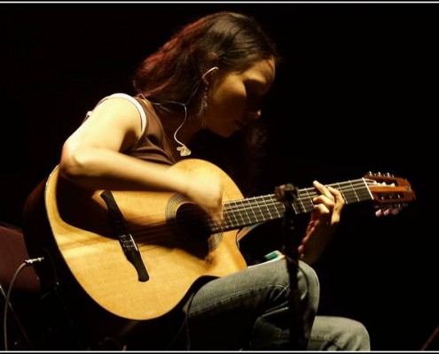
[[[139, 65], [135, 96], [106, 96], [87, 114], [63, 146], [61, 179], [90, 190], [176, 192], [221, 227], [221, 175], [169, 166], [195, 156], [191, 142], [200, 133], [229, 139], [259, 119], [277, 65], [277, 50], [254, 19], [218, 12], [192, 22]], [[309, 265], [325, 250], [344, 202], [337, 189], [317, 181], [314, 187], [319, 195], [297, 248], [302, 335], [299, 329], [290, 336], [290, 279], [281, 259], [194, 288], [177, 328], [164, 326], [172, 335], [162, 349], [369, 349], [367, 332], [356, 321], [315, 320], [319, 288]], [[127, 330], [119, 349], [157, 349], [132, 333], [141, 331]], [[295, 335], [299, 341], [292, 343]]]

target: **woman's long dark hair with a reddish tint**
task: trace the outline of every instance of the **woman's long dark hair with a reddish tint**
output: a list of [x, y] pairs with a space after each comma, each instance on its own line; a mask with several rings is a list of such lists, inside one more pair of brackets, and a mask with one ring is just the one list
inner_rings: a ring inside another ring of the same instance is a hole
[[212, 66], [219, 67], [217, 77], [221, 77], [268, 58], [278, 59], [276, 45], [255, 19], [237, 12], [216, 12], [176, 32], [145, 58], [132, 82], [137, 94], [161, 104], [188, 104], [191, 114], [200, 112], [201, 90], [197, 88]]

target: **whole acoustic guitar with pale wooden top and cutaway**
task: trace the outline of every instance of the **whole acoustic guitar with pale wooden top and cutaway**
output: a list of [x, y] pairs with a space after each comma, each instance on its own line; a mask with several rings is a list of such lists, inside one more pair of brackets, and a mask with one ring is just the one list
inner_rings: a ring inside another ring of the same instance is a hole
[[[195, 281], [245, 268], [239, 228], [282, 218], [286, 211], [275, 194], [244, 198], [231, 178], [207, 161], [186, 159], [170, 168], [222, 176], [220, 224], [182, 195], [80, 189], [59, 178], [58, 166], [43, 188], [42, 214], [61, 259], [96, 303], [122, 318], [161, 317]], [[372, 201], [384, 213], [415, 198], [408, 181], [384, 174], [331, 186], [346, 204]], [[315, 196], [313, 187], [299, 189], [294, 212], [311, 212]]]

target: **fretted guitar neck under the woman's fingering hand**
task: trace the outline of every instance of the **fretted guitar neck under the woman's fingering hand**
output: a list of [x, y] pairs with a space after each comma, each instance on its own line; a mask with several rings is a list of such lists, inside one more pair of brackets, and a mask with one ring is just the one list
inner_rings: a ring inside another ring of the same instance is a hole
[[[330, 184], [329, 186], [341, 192], [346, 204], [353, 204], [372, 200], [373, 196], [365, 178]], [[292, 203], [296, 215], [312, 212], [313, 198], [319, 193], [314, 187], [299, 189], [297, 197]], [[211, 224], [213, 233], [246, 227], [263, 221], [280, 219], [284, 216], [285, 204], [278, 201], [275, 194], [253, 196], [249, 198], [231, 200], [223, 204], [223, 225]]]

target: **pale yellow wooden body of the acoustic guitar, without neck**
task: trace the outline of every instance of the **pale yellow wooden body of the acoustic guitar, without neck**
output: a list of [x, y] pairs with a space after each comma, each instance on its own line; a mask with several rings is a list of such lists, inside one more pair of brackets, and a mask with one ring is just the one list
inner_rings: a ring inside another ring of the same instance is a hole
[[[242, 195], [216, 165], [189, 159], [170, 168], [223, 176], [223, 200]], [[46, 181], [43, 204], [51, 236], [74, 279], [106, 311], [126, 319], [154, 319], [179, 304], [201, 277], [246, 267], [237, 230], [210, 235], [203, 227], [180, 227], [180, 211], [199, 216], [196, 207], [176, 193], [114, 191], [114, 200], [137, 243], [147, 281], [139, 281], [115, 234], [101, 190], [90, 192], [59, 178], [58, 167]], [[191, 219], [193, 219], [191, 218]], [[31, 230], [26, 238], [32, 238]], [[28, 244], [33, 242], [29, 240]], [[40, 244], [40, 247], [41, 244]], [[33, 252], [35, 253], [35, 252]]]

